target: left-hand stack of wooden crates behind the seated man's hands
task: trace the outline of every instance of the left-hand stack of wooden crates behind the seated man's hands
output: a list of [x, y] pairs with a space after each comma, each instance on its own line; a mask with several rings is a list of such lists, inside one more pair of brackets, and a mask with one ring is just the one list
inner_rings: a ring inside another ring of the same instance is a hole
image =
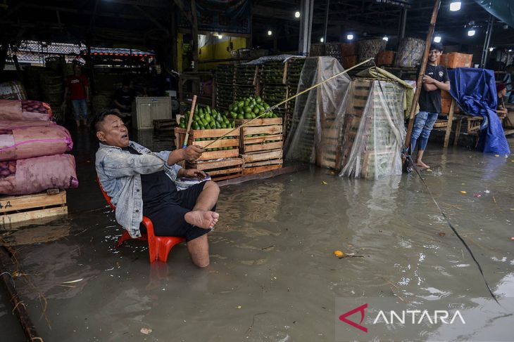
[[[182, 146], [187, 129], [175, 129], [175, 144]], [[227, 134], [228, 133], [228, 134]], [[216, 143], [213, 140], [225, 136]], [[194, 163], [186, 163], [187, 169], [203, 170], [212, 180], [236, 178], [243, 173], [243, 159], [239, 157], [239, 130], [237, 129], [192, 129], [187, 145], [199, 145], [208, 148]]]

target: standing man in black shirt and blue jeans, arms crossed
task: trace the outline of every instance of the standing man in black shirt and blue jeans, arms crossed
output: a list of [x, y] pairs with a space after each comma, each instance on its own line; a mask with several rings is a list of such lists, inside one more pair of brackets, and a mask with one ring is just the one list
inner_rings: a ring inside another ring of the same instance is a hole
[[439, 43], [432, 43], [420, 93], [420, 112], [416, 114], [413, 133], [410, 136], [411, 154], [414, 154], [418, 138], [420, 140], [415, 164], [425, 169], [430, 168], [430, 166], [422, 162], [422, 157], [427, 148], [428, 137], [437, 120], [437, 115], [441, 112], [441, 89], [444, 91], [450, 90], [450, 79], [446, 67], [437, 65], [441, 53], [443, 53], [443, 46]]

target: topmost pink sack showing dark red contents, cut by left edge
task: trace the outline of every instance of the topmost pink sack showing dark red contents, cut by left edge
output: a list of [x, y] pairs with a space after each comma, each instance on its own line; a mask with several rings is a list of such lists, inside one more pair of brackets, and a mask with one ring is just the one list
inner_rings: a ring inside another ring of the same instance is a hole
[[49, 121], [52, 111], [48, 103], [32, 100], [0, 100], [0, 119]]

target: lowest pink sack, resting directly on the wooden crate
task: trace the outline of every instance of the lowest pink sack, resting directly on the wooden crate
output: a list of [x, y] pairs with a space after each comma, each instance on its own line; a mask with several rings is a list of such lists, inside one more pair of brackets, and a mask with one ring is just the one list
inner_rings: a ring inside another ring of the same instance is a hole
[[1, 195], [30, 195], [78, 186], [75, 158], [71, 154], [0, 162]]

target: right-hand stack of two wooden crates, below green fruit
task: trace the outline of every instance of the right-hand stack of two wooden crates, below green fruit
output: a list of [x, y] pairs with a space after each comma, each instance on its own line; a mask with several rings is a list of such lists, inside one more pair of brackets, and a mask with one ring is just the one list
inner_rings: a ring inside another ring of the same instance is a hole
[[[237, 120], [238, 126], [251, 120]], [[282, 167], [282, 118], [255, 119], [242, 127], [239, 152], [243, 174], [261, 173]]]

